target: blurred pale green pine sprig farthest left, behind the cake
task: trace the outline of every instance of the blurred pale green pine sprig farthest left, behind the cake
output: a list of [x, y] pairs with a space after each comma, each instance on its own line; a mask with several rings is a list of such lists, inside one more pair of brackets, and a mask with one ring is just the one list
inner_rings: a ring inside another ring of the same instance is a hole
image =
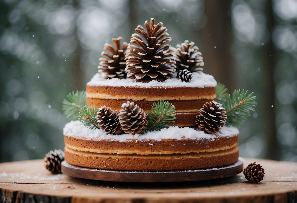
[[[68, 100], [67, 100], [68, 99]], [[78, 113], [80, 109], [86, 105], [86, 92], [85, 91], [72, 91], [64, 99], [62, 110], [68, 120], [78, 120]]]

